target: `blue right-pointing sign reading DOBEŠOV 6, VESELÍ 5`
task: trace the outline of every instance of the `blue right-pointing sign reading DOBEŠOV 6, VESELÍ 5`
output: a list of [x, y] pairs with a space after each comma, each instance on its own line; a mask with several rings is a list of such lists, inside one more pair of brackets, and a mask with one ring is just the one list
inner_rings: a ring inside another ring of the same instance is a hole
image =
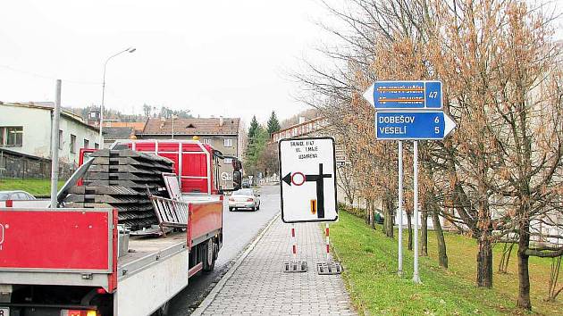
[[377, 139], [443, 139], [455, 127], [441, 111], [375, 112]]

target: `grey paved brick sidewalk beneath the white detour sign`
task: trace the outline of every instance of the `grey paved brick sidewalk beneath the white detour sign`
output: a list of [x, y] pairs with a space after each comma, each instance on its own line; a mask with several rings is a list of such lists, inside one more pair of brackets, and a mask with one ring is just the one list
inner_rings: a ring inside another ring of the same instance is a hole
[[355, 315], [341, 276], [316, 272], [316, 262], [326, 262], [319, 224], [295, 225], [307, 272], [283, 272], [282, 262], [291, 258], [290, 228], [278, 217], [202, 314]]

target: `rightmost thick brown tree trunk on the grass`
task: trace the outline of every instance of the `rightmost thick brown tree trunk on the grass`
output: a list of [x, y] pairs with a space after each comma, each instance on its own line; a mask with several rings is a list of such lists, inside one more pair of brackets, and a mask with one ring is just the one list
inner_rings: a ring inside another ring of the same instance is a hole
[[526, 310], [532, 309], [530, 301], [530, 272], [528, 271], [529, 255], [525, 254], [530, 245], [530, 227], [526, 218], [520, 223], [518, 231], [518, 299], [517, 306]]

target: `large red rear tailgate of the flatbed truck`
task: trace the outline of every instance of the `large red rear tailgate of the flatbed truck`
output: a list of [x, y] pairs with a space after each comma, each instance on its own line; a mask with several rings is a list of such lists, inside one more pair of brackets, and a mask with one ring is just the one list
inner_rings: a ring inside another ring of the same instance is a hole
[[107, 211], [0, 210], [0, 270], [111, 271], [108, 220]]

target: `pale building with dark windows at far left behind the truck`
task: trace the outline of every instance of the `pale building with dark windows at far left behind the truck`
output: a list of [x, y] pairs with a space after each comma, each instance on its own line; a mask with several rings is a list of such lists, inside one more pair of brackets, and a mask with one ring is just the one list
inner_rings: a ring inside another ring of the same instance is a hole
[[[51, 158], [52, 103], [0, 102], [0, 147], [13, 152]], [[99, 129], [80, 116], [61, 111], [59, 121], [60, 162], [76, 165], [80, 148], [99, 147]]]

